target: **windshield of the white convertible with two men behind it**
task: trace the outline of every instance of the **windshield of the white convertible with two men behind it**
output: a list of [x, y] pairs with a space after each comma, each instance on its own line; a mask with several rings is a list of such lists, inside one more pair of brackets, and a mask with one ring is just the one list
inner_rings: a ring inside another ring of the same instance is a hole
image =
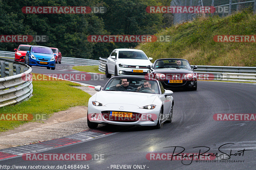
[[103, 90], [158, 94], [158, 84], [155, 80], [148, 81], [145, 78], [113, 78]]

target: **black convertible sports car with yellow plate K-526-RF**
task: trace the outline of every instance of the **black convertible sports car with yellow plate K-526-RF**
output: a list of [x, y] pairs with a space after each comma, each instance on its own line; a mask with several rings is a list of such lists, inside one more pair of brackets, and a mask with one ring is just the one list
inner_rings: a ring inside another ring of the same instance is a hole
[[164, 89], [197, 89], [197, 66], [192, 69], [188, 60], [162, 58], [147, 68], [148, 77], [160, 80]]

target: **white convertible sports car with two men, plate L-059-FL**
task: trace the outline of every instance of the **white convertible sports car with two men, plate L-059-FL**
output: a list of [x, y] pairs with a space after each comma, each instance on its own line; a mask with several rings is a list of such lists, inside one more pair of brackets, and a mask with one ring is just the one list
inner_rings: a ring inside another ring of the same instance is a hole
[[87, 124], [155, 126], [172, 122], [174, 105], [170, 90], [156, 79], [116, 76], [108, 80], [88, 102]]

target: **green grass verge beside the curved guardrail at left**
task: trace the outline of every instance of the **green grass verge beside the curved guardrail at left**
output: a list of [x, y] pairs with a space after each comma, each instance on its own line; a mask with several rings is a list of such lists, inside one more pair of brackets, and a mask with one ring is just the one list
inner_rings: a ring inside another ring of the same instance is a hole
[[[71, 87], [78, 86], [68, 81], [33, 81], [33, 96], [15, 106], [0, 108], [0, 132], [13, 129], [29, 121], [4, 121], [2, 114], [37, 114], [49, 117], [54, 112], [74, 106], [87, 106], [88, 93]], [[86, 113], [84, 114], [86, 116]], [[2, 118], [2, 119], [1, 119]], [[33, 122], [35, 120], [31, 120]]]

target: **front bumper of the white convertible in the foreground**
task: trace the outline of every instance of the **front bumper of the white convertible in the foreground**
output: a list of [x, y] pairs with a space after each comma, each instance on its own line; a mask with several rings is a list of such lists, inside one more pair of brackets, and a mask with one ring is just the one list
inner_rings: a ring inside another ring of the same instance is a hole
[[[120, 106], [123, 106], [124, 110], [120, 110]], [[110, 111], [132, 113], [132, 118], [110, 116]], [[160, 106], [156, 106], [154, 109], [150, 110], [130, 104], [107, 104], [105, 106], [94, 106], [92, 105], [92, 101], [89, 101], [88, 104], [88, 118], [90, 122], [99, 124], [155, 126], [158, 121], [159, 112]]]

